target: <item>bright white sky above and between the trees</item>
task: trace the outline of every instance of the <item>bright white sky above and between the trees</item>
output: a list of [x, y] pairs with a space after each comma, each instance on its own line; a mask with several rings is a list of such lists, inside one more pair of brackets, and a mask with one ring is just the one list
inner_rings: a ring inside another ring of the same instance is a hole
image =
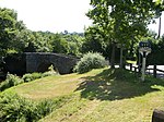
[[[92, 25], [92, 21], [85, 15], [91, 9], [90, 0], [0, 0], [0, 7], [14, 9], [17, 20], [23, 21], [32, 30], [83, 33], [84, 27]], [[149, 28], [157, 33], [159, 21], [149, 25]]]

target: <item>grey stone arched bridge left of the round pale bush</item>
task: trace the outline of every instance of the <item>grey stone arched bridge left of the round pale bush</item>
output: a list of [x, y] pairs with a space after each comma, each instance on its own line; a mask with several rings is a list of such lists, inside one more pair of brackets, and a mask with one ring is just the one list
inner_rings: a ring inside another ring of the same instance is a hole
[[26, 72], [45, 72], [52, 64], [60, 74], [71, 73], [78, 59], [74, 57], [47, 53], [47, 52], [26, 52]]

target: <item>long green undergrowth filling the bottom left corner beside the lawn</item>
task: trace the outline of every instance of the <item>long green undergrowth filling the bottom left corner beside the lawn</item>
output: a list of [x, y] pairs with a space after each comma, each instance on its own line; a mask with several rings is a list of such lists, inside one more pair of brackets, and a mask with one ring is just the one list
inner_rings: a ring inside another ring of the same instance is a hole
[[0, 95], [1, 122], [36, 122], [60, 107], [63, 98], [34, 102], [13, 93]]

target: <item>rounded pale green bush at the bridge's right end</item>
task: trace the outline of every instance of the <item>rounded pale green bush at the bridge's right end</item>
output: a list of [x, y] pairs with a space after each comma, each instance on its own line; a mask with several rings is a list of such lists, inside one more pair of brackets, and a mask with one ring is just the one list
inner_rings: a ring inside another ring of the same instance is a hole
[[74, 71], [78, 73], [85, 73], [92, 69], [99, 69], [106, 65], [105, 58], [99, 53], [89, 52], [81, 58], [78, 64], [74, 68]]

